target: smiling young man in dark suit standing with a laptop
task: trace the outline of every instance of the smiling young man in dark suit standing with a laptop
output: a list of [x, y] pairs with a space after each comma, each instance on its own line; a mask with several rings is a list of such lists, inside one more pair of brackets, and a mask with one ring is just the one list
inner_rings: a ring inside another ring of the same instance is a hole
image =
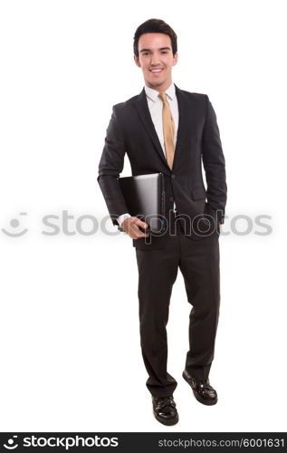
[[[182, 91], [172, 82], [177, 35], [170, 26], [158, 19], [139, 25], [134, 60], [143, 72], [145, 87], [113, 107], [98, 181], [113, 224], [129, 234], [136, 249], [140, 345], [153, 412], [161, 423], [174, 425], [177, 381], [167, 372], [166, 326], [178, 267], [193, 305], [183, 377], [196, 400], [206, 405], [217, 401], [208, 375], [220, 302], [218, 236], [225, 216], [225, 158], [215, 111], [206, 94]], [[147, 224], [129, 216], [118, 181], [126, 152], [133, 175], [164, 175], [167, 226], [163, 235], [145, 233]]]

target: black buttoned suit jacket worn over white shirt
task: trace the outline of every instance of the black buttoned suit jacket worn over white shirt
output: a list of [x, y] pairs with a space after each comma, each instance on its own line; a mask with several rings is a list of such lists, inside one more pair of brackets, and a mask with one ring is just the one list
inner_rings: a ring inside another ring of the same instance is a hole
[[[98, 182], [114, 225], [129, 212], [118, 178], [128, 154], [132, 175], [162, 172], [166, 190], [166, 214], [176, 202], [180, 215], [191, 219], [208, 214], [224, 222], [226, 204], [225, 157], [215, 111], [206, 94], [186, 92], [176, 86], [179, 122], [173, 169], [158, 140], [145, 90], [113, 106], [105, 146], [99, 165]], [[206, 172], [205, 188], [202, 162]], [[191, 238], [198, 238], [191, 235]], [[162, 237], [152, 238], [149, 247], [163, 246]], [[160, 242], [159, 242], [160, 241]], [[133, 240], [146, 248], [145, 238]]]

